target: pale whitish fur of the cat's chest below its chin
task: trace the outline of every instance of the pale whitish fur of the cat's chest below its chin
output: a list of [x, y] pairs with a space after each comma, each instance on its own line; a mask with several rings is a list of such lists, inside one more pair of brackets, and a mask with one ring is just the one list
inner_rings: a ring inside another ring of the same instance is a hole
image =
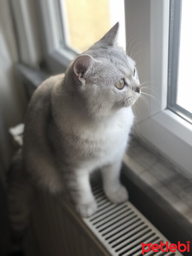
[[70, 145], [93, 157], [102, 157], [102, 154], [111, 154], [118, 151], [127, 141], [132, 119], [128, 116], [116, 116], [110, 120], [87, 124], [71, 125]]

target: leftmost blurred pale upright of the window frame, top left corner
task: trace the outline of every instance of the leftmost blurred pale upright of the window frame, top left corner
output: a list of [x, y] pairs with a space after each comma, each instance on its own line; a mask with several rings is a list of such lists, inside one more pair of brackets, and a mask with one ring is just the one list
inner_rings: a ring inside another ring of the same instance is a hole
[[35, 1], [10, 0], [10, 9], [19, 59], [23, 64], [37, 69], [43, 57]]

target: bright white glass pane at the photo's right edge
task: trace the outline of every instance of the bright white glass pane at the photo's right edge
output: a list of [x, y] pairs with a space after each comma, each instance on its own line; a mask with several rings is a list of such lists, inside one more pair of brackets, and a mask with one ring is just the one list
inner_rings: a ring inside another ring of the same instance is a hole
[[168, 108], [192, 123], [192, 1], [171, 1], [169, 26]]

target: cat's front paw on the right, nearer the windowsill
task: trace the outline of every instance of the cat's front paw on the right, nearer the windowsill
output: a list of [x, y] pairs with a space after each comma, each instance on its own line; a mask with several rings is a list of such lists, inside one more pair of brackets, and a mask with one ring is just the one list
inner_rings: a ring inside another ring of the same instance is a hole
[[114, 204], [120, 204], [128, 201], [128, 191], [124, 186], [119, 186], [117, 190], [108, 190], [105, 192], [109, 200]]

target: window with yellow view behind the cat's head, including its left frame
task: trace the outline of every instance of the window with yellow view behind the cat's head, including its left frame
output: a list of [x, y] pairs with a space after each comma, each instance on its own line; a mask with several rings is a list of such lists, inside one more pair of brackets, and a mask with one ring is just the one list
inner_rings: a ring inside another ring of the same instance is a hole
[[[119, 45], [125, 49], [123, 0], [41, 0], [45, 58], [54, 73], [99, 40], [117, 21]], [[85, 15], [86, 14], [86, 15]]]

